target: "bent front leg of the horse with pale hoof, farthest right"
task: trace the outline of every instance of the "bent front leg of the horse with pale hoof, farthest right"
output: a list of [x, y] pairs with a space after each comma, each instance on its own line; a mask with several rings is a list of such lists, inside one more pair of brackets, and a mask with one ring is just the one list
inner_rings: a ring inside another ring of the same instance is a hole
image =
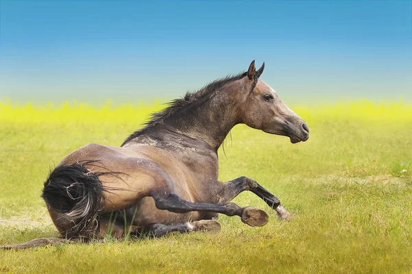
[[236, 196], [245, 190], [249, 190], [260, 199], [265, 201], [271, 208], [276, 210], [277, 218], [280, 220], [290, 221], [292, 220], [292, 215], [281, 205], [278, 197], [268, 192], [263, 186], [258, 184], [254, 179], [249, 177], [238, 177], [229, 182], [222, 183], [222, 190], [220, 190], [220, 203], [229, 203]]

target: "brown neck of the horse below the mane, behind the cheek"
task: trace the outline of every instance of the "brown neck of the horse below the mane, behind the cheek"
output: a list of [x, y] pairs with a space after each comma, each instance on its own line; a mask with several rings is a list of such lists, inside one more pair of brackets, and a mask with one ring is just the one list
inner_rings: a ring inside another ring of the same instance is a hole
[[216, 151], [227, 134], [238, 123], [236, 100], [220, 90], [213, 95], [198, 99], [170, 116], [165, 125], [179, 133], [203, 140]]

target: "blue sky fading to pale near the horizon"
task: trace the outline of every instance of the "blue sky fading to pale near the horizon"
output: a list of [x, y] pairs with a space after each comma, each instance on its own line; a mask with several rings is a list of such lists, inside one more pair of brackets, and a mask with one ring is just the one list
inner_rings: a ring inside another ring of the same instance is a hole
[[412, 101], [412, 1], [0, 1], [0, 100], [164, 101], [252, 60], [291, 104]]

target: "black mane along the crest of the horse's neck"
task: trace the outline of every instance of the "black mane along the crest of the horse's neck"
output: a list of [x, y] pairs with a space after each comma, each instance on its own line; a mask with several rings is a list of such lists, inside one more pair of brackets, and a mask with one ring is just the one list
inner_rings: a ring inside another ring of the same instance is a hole
[[213, 92], [215, 92], [222, 86], [242, 79], [246, 75], [247, 73], [245, 72], [238, 73], [237, 75], [227, 75], [226, 77], [216, 79], [214, 82], [207, 84], [206, 86], [204, 86], [200, 90], [197, 90], [196, 92], [186, 92], [185, 97], [181, 97], [170, 101], [166, 104], [168, 105], [167, 108], [165, 108], [161, 112], [155, 112], [152, 114], [151, 119], [145, 123], [146, 126], [144, 128], [133, 132], [133, 134], [130, 134], [130, 136], [128, 136], [128, 138], [124, 140], [122, 147], [126, 145], [127, 142], [130, 142], [130, 140], [133, 140], [137, 136], [140, 136], [145, 129], [148, 129], [152, 125], [160, 123], [164, 119], [168, 118], [170, 115], [174, 114], [174, 112], [176, 112], [177, 110], [184, 108], [186, 105], [189, 105], [190, 103], [197, 101], [198, 99], [211, 95]]

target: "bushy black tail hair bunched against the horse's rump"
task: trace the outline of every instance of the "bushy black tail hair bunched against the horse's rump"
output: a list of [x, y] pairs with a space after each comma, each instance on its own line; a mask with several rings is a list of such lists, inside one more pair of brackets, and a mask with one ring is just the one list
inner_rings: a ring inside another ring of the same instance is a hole
[[96, 216], [102, 210], [103, 186], [99, 176], [106, 173], [94, 173], [86, 164], [93, 166], [93, 162], [82, 162], [56, 167], [46, 179], [41, 195], [59, 212], [59, 223], [71, 223], [67, 238], [93, 233]]

